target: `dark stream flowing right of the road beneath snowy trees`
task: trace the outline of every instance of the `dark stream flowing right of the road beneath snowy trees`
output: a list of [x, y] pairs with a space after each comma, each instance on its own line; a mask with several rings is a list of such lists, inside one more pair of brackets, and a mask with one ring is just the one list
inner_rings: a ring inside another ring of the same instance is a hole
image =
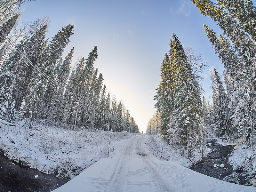
[[[212, 152], [190, 169], [219, 180], [225, 180], [240, 185], [252, 185], [248, 174], [233, 170], [232, 165], [228, 163], [228, 157], [234, 149], [234, 146], [208, 145], [208, 148], [212, 148]], [[214, 164], [224, 164], [224, 167], [213, 167]]]

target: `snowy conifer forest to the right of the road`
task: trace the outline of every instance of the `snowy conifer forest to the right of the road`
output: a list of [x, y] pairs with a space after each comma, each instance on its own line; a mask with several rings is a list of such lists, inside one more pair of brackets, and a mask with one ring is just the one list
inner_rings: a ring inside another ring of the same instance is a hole
[[204, 25], [225, 70], [211, 70], [212, 101], [207, 100], [200, 76], [206, 63], [173, 34], [161, 63], [157, 112], [148, 122], [147, 134], [160, 133], [188, 159], [195, 151], [203, 158], [206, 138], [239, 139], [241, 145], [229, 162], [255, 176], [256, 8], [250, 0], [191, 1], [223, 31], [217, 36]]

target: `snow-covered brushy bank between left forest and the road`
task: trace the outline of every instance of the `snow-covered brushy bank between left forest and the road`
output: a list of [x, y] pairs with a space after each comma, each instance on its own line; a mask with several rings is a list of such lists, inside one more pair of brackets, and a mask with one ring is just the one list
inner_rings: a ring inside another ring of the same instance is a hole
[[[28, 123], [25, 120], [12, 125], [1, 122], [0, 151], [20, 164], [73, 178], [108, 154], [106, 131], [74, 131], [41, 125], [28, 129]], [[134, 134], [112, 132], [111, 143]], [[110, 151], [114, 151], [111, 143]]]

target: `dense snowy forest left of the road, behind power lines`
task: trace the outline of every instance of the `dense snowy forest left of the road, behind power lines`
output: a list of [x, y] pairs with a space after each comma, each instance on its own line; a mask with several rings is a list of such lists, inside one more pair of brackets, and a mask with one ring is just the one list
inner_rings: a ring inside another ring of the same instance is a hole
[[[93, 66], [97, 46], [72, 64], [75, 48], [62, 55], [74, 25], [46, 38], [49, 18], [17, 25], [27, 1], [0, 5], [0, 117], [12, 125], [26, 119], [34, 125], [63, 129], [139, 132], [122, 101], [110, 96], [103, 75]], [[73, 66], [73, 67], [72, 67]]]

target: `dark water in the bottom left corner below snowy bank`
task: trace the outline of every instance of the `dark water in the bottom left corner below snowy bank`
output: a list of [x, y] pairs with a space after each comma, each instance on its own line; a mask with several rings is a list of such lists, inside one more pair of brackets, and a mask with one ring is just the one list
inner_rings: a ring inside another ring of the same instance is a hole
[[0, 155], [0, 192], [49, 192], [66, 182], [67, 178], [20, 166]]

